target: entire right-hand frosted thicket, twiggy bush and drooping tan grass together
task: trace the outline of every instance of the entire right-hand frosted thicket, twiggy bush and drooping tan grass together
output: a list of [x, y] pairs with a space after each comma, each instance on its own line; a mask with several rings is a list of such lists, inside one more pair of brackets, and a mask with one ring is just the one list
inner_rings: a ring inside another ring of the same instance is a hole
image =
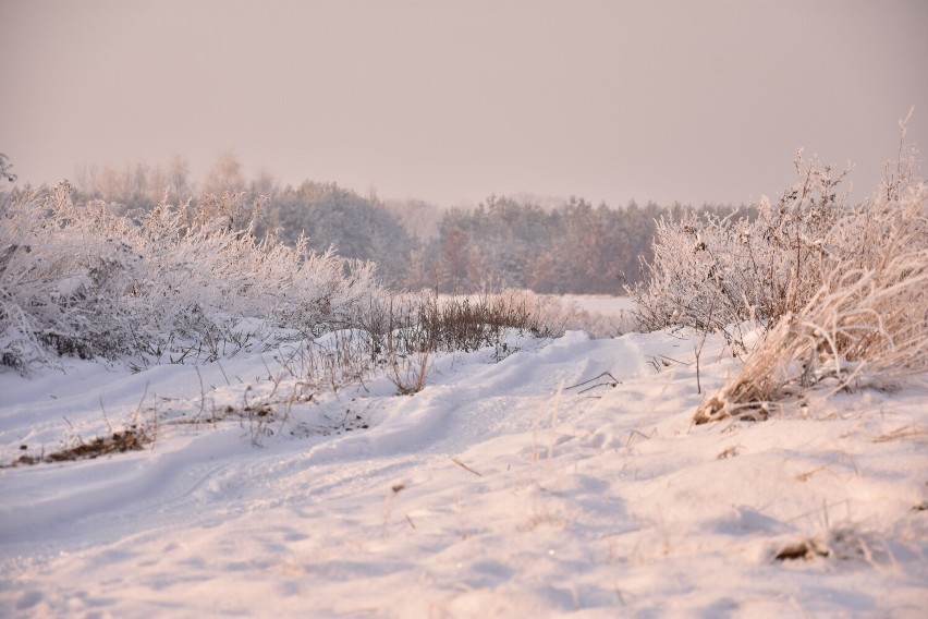
[[846, 171], [801, 151], [798, 182], [756, 205], [756, 219], [659, 221], [648, 280], [630, 289], [639, 327], [752, 320], [766, 331], [697, 422], [764, 417], [816, 386], [889, 388], [928, 372], [928, 189], [916, 157], [900, 147], [878, 191], [853, 206], [838, 192]]

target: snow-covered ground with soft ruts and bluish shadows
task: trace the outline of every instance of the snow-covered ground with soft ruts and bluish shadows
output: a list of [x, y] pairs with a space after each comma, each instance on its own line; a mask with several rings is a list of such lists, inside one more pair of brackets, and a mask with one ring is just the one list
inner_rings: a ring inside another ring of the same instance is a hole
[[0, 374], [4, 463], [159, 424], [144, 451], [0, 471], [0, 615], [920, 617], [925, 392], [694, 426], [737, 363], [708, 339], [697, 393], [699, 341], [444, 355], [414, 396], [319, 390], [259, 446], [207, 417], [295, 389], [273, 353]]

